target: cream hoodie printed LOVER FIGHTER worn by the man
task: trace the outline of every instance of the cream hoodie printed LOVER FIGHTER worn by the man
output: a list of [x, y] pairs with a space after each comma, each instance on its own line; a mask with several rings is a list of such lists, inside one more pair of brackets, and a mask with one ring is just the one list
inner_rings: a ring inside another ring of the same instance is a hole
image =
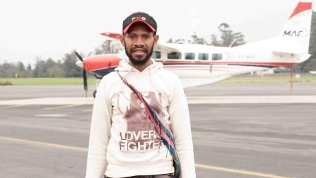
[[[115, 69], [172, 131], [182, 178], [194, 178], [188, 102], [177, 76], [161, 63], [138, 71], [124, 60]], [[146, 118], [144, 105], [114, 71], [102, 78], [93, 105], [86, 178], [173, 173], [172, 156]], [[106, 167], [107, 164], [107, 167]]]

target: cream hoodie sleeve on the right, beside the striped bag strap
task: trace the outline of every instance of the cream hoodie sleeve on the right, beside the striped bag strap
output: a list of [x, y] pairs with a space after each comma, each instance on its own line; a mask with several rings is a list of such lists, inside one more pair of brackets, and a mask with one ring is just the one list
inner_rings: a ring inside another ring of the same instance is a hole
[[181, 163], [182, 178], [195, 178], [194, 153], [188, 101], [179, 78], [175, 82], [174, 96], [170, 100], [169, 113], [174, 142]]

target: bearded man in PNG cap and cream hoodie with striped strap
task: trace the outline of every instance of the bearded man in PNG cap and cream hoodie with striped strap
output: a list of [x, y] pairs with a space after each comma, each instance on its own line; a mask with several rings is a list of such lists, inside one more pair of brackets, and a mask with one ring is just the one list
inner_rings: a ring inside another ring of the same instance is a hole
[[104, 172], [106, 177], [196, 177], [181, 82], [150, 59], [159, 39], [156, 32], [155, 19], [144, 12], [123, 21], [120, 41], [128, 61], [120, 61], [98, 87], [87, 178]]

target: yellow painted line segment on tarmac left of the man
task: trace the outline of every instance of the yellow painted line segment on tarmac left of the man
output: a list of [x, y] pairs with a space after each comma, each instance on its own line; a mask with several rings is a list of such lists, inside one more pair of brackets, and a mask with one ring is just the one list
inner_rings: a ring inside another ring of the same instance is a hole
[[55, 148], [63, 148], [63, 149], [69, 149], [69, 150], [76, 150], [76, 151], [84, 151], [87, 152], [87, 148], [80, 148], [76, 146], [66, 146], [62, 144], [50, 144], [50, 143], [45, 143], [45, 142], [36, 142], [36, 141], [31, 141], [31, 140], [22, 140], [18, 138], [11, 138], [11, 137], [0, 137], [0, 140], [8, 140], [8, 141], [13, 141], [13, 142], [23, 142], [27, 144], [38, 144], [42, 146], [52, 146]]

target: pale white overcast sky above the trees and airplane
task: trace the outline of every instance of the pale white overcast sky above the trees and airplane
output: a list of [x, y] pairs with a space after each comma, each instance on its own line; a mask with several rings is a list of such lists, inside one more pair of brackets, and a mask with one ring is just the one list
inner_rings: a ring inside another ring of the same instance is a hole
[[[313, 10], [316, 10], [316, 0]], [[76, 49], [88, 54], [104, 41], [101, 32], [122, 32], [122, 21], [144, 11], [158, 24], [161, 42], [210, 38], [226, 22], [248, 43], [278, 35], [298, 0], [10, 0], [0, 1], [0, 63], [34, 65], [35, 57], [63, 58]]]

